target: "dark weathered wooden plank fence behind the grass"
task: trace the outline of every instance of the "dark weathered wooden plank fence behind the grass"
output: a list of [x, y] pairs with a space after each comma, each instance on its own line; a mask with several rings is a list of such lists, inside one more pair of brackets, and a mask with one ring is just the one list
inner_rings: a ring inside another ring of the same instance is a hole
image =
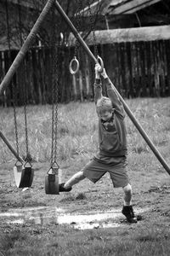
[[[93, 47], [90, 49], [94, 52]], [[17, 53], [12, 51], [10, 57], [8, 51], [0, 52], [1, 80]], [[170, 96], [170, 40], [102, 44], [98, 45], [98, 53], [123, 97]], [[73, 56], [74, 49], [58, 50], [59, 102], [93, 100], [94, 63], [79, 49], [80, 71], [72, 76], [69, 63]], [[0, 105], [13, 105], [13, 90], [18, 106], [25, 103], [25, 91], [28, 104], [50, 104], [52, 83], [53, 53], [50, 49], [31, 49], [14, 74], [13, 82], [0, 96]]]

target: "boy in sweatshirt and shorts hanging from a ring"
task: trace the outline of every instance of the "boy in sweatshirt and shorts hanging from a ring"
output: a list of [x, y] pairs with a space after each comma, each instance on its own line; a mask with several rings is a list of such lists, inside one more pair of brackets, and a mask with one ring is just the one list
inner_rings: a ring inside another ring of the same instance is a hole
[[[127, 222], [136, 223], [132, 200], [132, 187], [127, 176], [127, 131], [124, 123], [125, 113], [105, 68], [102, 73], [99, 64], [95, 65], [94, 101], [99, 117], [99, 153], [90, 160], [80, 172], [66, 183], [59, 184], [59, 192], [69, 192], [72, 186], [87, 177], [96, 183], [105, 174], [110, 173], [115, 188], [122, 187], [124, 204], [122, 213]], [[105, 79], [108, 97], [102, 95], [100, 74]]]

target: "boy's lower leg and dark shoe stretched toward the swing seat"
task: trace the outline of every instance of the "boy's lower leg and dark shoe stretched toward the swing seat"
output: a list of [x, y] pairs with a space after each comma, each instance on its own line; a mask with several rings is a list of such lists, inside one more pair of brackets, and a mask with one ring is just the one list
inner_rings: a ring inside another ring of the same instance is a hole
[[69, 192], [72, 189], [72, 186], [76, 183], [79, 183], [85, 176], [82, 171], [74, 174], [66, 183], [59, 184], [59, 192]]

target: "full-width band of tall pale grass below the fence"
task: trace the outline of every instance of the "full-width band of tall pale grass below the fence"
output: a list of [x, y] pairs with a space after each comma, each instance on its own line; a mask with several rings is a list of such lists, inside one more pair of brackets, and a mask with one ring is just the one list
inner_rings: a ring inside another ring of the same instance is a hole
[[[136, 99], [127, 104], [139, 120], [144, 131], [157, 148], [167, 156], [169, 150], [170, 103], [168, 99]], [[50, 160], [51, 154], [51, 106], [29, 106], [27, 108], [29, 150], [34, 161]], [[26, 155], [26, 136], [23, 109], [17, 109], [18, 134], [21, 156]], [[94, 102], [71, 102], [59, 105], [58, 159], [59, 161], [95, 154], [98, 148], [97, 115]], [[127, 118], [127, 140], [129, 154], [149, 152], [147, 143], [139, 135], [132, 121]], [[12, 108], [1, 108], [0, 129], [15, 148], [14, 118]], [[163, 147], [161, 147], [163, 146]], [[0, 163], [10, 161], [13, 156], [0, 141], [2, 154]]]

